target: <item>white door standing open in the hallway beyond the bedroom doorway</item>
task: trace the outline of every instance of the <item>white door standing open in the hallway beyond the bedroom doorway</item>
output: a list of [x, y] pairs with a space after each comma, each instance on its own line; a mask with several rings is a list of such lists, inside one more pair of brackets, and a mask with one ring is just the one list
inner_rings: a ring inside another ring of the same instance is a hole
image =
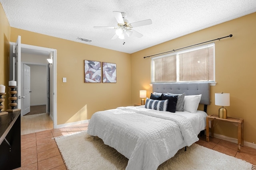
[[23, 64], [23, 90], [22, 90], [22, 111], [23, 115], [30, 112], [30, 66]]

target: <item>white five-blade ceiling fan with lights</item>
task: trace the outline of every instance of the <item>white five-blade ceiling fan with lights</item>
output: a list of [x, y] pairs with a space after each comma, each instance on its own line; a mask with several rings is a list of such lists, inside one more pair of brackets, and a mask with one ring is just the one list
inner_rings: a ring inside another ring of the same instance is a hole
[[152, 24], [152, 21], [150, 19], [129, 23], [129, 21], [126, 19], [126, 13], [113, 11], [113, 14], [116, 18], [116, 21], [118, 22], [118, 27], [94, 27], [116, 29], [116, 34], [111, 39], [116, 39], [117, 37], [120, 39], [124, 39], [124, 35], [127, 35], [128, 37], [134, 35], [138, 38], [141, 38], [143, 35], [132, 28]]

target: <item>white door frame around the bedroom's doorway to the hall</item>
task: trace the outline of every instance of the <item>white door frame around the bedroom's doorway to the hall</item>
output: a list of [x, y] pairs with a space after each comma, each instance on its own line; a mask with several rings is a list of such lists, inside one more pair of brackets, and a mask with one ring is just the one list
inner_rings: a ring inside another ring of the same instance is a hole
[[[15, 45], [14, 42], [10, 42], [10, 61], [12, 61], [11, 58], [13, 56], [12, 51], [13, 51], [14, 45]], [[50, 53], [52, 53], [52, 64], [51, 64], [51, 66], [52, 66], [52, 73], [51, 73], [52, 82], [50, 82], [50, 84], [52, 86], [52, 93], [50, 94], [50, 96], [52, 96], [52, 101], [50, 101], [50, 104], [52, 104], [52, 120], [53, 120], [53, 127], [55, 129], [57, 127], [57, 50], [46, 48], [46, 47], [22, 44], [22, 43], [21, 43], [21, 48], [27, 48], [27, 49], [39, 50], [39, 51], [49, 51]], [[21, 71], [22, 70], [19, 70], [19, 72], [21, 72]], [[11, 72], [12, 71], [10, 68], [10, 77], [12, 77]], [[18, 108], [18, 109], [21, 109], [21, 108]]]

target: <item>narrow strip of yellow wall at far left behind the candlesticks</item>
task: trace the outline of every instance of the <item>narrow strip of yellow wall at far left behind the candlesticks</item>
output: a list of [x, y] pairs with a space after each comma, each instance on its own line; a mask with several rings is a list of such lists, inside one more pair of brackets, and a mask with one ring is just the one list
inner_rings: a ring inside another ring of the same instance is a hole
[[8, 81], [9, 81], [9, 50], [10, 50], [10, 24], [6, 18], [2, 5], [0, 5], [0, 84], [3, 84], [6, 92], [6, 99], [2, 103], [8, 109]]

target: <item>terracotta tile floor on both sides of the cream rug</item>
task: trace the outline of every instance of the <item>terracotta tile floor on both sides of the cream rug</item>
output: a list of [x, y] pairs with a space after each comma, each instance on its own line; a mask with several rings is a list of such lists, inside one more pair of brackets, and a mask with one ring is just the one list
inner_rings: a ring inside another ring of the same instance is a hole
[[[22, 135], [21, 167], [17, 170], [66, 170], [58, 147], [52, 138], [84, 131], [87, 127], [88, 123], [85, 123]], [[256, 149], [241, 147], [241, 152], [237, 152], [235, 143], [217, 138], [210, 138], [210, 142], [206, 142], [205, 135], [199, 138], [200, 140], [196, 142], [199, 145], [256, 164]]]

